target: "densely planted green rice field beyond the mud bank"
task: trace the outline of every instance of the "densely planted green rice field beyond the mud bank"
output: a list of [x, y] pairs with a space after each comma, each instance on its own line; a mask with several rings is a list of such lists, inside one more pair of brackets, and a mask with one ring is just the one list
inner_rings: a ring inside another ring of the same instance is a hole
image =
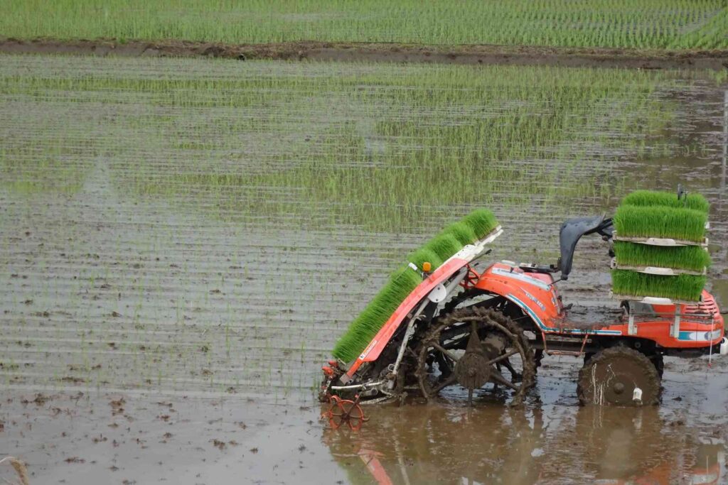
[[[42, 15], [39, 12], [43, 12]], [[718, 0], [408, 0], [352, 2], [125, 0], [10, 1], [0, 32], [19, 38], [181, 39], [232, 44], [290, 41], [511, 44], [725, 49]]]

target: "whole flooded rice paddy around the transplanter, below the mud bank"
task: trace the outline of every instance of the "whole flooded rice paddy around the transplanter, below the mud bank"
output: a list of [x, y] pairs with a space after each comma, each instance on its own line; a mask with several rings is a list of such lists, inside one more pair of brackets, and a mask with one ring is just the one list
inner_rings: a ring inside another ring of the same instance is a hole
[[[724, 484], [728, 359], [665, 359], [657, 408], [369, 407], [332, 432], [333, 343], [474, 207], [493, 260], [683, 182], [728, 305], [723, 73], [0, 57], [0, 457], [31, 483]], [[564, 300], [617, 305], [579, 244]], [[0, 465], [1, 466], [1, 465]], [[12, 478], [0, 468], [0, 478]]]

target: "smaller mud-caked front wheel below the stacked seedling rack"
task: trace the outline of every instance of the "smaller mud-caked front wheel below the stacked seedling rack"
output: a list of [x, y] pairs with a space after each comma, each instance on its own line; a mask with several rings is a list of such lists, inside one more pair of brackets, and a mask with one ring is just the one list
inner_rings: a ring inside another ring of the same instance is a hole
[[[635, 401], [636, 389], [641, 399]], [[594, 354], [579, 370], [577, 395], [581, 404], [653, 406], [660, 401], [660, 374], [644, 354], [611, 347]]]

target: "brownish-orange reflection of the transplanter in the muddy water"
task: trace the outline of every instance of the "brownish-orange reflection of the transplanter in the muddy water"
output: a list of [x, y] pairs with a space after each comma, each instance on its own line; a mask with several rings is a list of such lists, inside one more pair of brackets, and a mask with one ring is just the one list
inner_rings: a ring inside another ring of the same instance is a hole
[[725, 484], [726, 446], [658, 409], [402, 406], [325, 430], [352, 484]]

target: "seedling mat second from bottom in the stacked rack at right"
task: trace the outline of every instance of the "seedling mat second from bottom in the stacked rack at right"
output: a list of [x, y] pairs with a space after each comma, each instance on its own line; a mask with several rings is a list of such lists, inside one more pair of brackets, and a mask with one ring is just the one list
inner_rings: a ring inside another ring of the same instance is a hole
[[617, 265], [703, 271], [711, 265], [711, 256], [700, 246], [663, 247], [614, 241]]

